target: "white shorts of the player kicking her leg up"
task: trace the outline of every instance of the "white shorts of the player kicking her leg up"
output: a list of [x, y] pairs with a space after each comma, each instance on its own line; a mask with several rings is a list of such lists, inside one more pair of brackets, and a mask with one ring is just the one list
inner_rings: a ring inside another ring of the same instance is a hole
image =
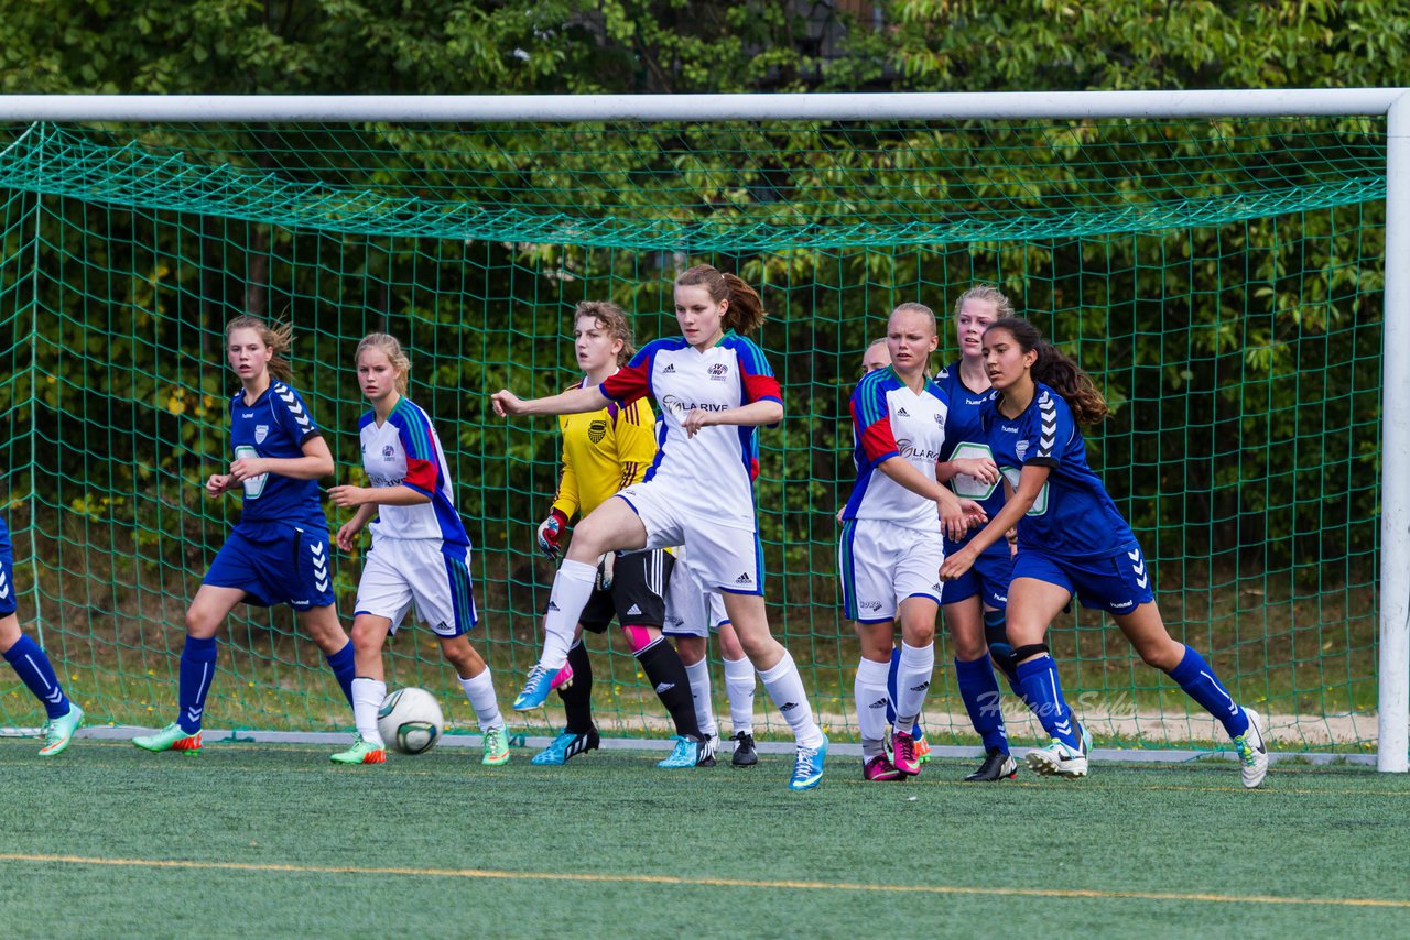
[[[646, 526], [647, 548], [680, 545], [685, 565], [708, 590], [739, 595], [764, 593], [764, 550], [759, 533], [730, 528], [680, 507], [658, 483], [636, 483], [616, 493]], [[681, 567], [680, 558], [677, 568]]]

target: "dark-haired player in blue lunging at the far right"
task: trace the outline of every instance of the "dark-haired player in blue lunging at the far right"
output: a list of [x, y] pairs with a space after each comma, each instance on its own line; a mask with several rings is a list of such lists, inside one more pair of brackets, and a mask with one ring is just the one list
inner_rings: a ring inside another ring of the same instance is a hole
[[945, 559], [940, 576], [960, 578], [1017, 524], [1008, 640], [1024, 698], [1052, 736], [1052, 744], [1029, 751], [1028, 765], [1048, 775], [1087, 774], [1086, 741], [1043, 643], [1049, 623], [1076, 596], [1084, 607], [1110, 613], [1142, 660], [1169, 674], [1224, 724], [1242, 761], [1244, 786], [1258, 786], [1268, 774], [1259, 716], [1239, 707], [1204, 658], [1166, 631], [1141, 545], [1087, 466], [1079, 424], [1108, 416], [1101, 393], [1026, 320], [1004, 317], [984, 331], [984, 365], [995, 395], [980, 420], [1014, 493], [988, 526]]

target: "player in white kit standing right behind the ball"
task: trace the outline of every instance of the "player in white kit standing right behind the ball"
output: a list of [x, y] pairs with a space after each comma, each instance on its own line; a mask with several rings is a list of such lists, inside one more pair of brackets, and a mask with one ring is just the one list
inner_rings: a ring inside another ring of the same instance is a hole
[[[410, 361], [402, 344], [372, 333], [357, 347], [357, 378], [372, 410], [358, 421], [362, 468], [371, 486], [334, 486], [337, 506], [357, 506], [338, 530], [338, 548], [351, 551], [371, 523], [372, 550], [362, 565], [352, 620], [357, 678], [352, 747], [331, 757], [338, 764], [385, 764], [386, 746], [376, 713], [386, 698], [382, 647], [416, 605], [440, 641], [441, 655], [470, 700], [484, 734], [484, 764], [509, 760], [505, 719], [495, 700], [489, 667], [467, 636], [478, 621], [470, 583], [470, 536], [455, 512], [446, 452], [430, 417], [405, 397]], [[375, 521], [372, 521], [375, 519]]]

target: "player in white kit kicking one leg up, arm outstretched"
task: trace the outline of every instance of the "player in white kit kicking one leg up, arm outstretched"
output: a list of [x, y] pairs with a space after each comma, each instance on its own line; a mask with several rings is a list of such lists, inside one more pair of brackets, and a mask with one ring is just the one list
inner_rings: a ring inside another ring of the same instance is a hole
[[595, 412], [650, 396], [663, 416], [646, 481], [578, 523], [553, 582], [543, 657], [520, 698], [547, 698], [603, 552], [684, 545], [695, 575], [723, 595], [744, 653], [794, 731], [790, 789], [811, 789], [822, 781], [828, 738], [812, 719], [798, 667], [768, 631], [754, 516], [756, 428], [777, 424], [784, 407], [763, 351], [740, 334], [767, 314], [753, 287], [709, 265], [685, 271], [674, 286], [681, 335], [649, 342], [601, 386], [527, 402], [508, 389], [492, 396], [495, 412], [506, 416]]

